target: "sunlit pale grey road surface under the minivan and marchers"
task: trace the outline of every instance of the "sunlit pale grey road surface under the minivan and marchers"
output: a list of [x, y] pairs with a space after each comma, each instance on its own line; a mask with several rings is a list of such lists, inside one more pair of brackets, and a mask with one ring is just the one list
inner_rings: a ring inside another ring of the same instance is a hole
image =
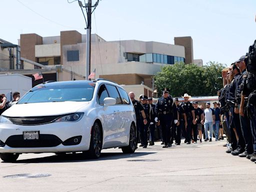
[[14, 163], [0, 162], [0, 191], [256, 191], [256, 164], [225, 153], [224, 143], [162, 148], [156, 142], [133, 154], [102, 150], [97, 160], [21, 154]]

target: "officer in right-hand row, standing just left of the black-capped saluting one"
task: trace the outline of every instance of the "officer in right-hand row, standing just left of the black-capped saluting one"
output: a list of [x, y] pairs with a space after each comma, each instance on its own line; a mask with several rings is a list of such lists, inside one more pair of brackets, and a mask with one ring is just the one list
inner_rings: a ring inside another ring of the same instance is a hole
[[[239, 120], [239, 114], [235, 113], [235, 110], [238, 109], [237, 104], [235, 104], [235, 89], [237, 87], [237, 80], [240, 76], [240, 70], [238, 69], [238, 67], [234, 64], [232, 64], [231, 66], [231, 70], [230, 70], [233, 79], [230, 82], [229, 85], [229, 91], [228, 91], [228, 102], [230, 103], [230, 115], [231, 115], [231, 123], [230, 126], [234, 126], [235, 128], [235, 132], [237, 134], [237, 144], [236, 144], [236, 149], [234, 149], [235, 147], [235, 140], [234, 137], [235, 135], [232, 134], [231, 131], [231, 140], [232, 140], [232, 149], [233, 151], [231, 152], [231, 154], [233, 155], [238, 155], [240, 153], [242, 153], [244, 151], [244, 147], [245, 147], [245, 142], [242, 136], [242, 132], [241, 132], [241, 125], [240, 125], [240, 120]], [[232, 127], [230, 127], [231, 130]]]

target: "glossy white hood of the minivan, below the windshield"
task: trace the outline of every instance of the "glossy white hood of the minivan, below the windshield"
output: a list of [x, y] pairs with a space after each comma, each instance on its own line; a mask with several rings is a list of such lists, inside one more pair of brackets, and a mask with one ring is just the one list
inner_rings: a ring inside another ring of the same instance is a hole
[[76, 112], [82, 106], [87, 105], [88, 101], [64, 101], [64, 102], [39, 102], [14, 104], [2, 115], [5, 116], [50, 116]]

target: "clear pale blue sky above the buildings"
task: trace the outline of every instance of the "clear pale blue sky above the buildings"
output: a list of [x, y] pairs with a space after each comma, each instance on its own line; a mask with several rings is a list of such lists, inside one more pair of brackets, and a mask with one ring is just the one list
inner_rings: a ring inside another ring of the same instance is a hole
[[[77, 0], [0, 0], [0, 13], [0, 38], [14, 44], [21, 33], [86, 33]], [[191, 36], [194, 59], [229, 65], [256, 39], [255, 14], [256, 0], [100, 0], [91, 33], [170, 44]]]

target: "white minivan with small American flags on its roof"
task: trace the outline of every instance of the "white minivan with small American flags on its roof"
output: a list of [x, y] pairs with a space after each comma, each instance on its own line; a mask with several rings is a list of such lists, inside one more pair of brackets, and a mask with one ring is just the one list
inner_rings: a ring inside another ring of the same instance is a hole
[[135, 112], [118, 84], [104, 80], [48, 82], [34, 86], [0, 115], [0, 158], [21, 153], [82, 151], [98, 158], [101, 149], [136, 149]]

